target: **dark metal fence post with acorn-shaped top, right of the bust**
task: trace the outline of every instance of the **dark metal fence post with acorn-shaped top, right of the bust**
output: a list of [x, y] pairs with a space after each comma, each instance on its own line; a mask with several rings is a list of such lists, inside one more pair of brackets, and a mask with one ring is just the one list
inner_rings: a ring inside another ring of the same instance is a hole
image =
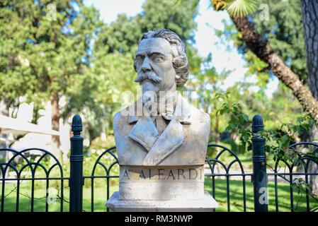
[[265, 141], [266, 139], [259, 135], [263, 131], [263, 119], [256, 114], [252, 120], [252, 131], [254, 136], [251, 138], [253, 147], [253, 184], [254, 184], [254, 210], [255, 212], [268, 211], [268, 192], [267, 192], [267, 174]]

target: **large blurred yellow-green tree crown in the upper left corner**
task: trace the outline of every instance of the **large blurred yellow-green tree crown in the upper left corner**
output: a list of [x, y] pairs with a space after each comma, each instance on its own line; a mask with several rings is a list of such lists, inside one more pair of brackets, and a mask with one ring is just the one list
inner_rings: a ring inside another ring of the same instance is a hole
[[81, 1], [66, 0], [55, 1], [52, 12], [50, 3], [1, 1], [0, 98], [8, 107], [21, 96], [38, 109], [67, 97], [88, 67], [98, 13]]

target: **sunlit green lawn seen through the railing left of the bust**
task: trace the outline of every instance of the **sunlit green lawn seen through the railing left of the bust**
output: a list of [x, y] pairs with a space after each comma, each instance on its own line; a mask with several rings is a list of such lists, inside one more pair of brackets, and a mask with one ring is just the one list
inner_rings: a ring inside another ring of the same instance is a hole
[[[59, 182], [52, 182], [52, 187], [56, 187], [55, 184]], [[109, 196], [113, 194], [114, 191], [118, 191], [118, 179], [113, 179], [113, 183], [109, 186]], [[63, 211], [69, 211], [69, 187], [67, 182], [64, 182], [64, 202]], [[89, 186], [88, 186], [89, 185]], [[85, 180], [85, 186], [83, 187], [83, 210], [86, 212], [91, 211], [91, 179]], [[60, 184], [59, 184], [60, 186]], [[0, 184], [1, 188], [1, 184]], [[5, 198], [4, 198], [4, 211], [5, 212], [15, 212], [16, 211], [16, 183], [6, 183], [5, 186]], [[20, 185], [20, 197], [19, 197], [19, 211], [30, 212], [31, 203], [31, 182], [23, 182]], [[44, 212], [46, 204], [46, 186], [45, 182], [35, 182], [34, 190], [34, 204], [33, 210], [35, 212]], [[55, 198], [57, 194], [57, 189], [49, 190], [49, 194], [52, 194], [53, 198], [50, 198], [49, 212], [59, 212], [61, 210], [60, 201]], [[0, 191], [1, 194], [1, 191]], [[60, 196], [60, 193], [59, 193]], [[94, 194], [93, 194], [93, 210], [96, 212], [106, 211], [106, 200], [107, 200], [107, 186], [105, 179], [94, 179]]]

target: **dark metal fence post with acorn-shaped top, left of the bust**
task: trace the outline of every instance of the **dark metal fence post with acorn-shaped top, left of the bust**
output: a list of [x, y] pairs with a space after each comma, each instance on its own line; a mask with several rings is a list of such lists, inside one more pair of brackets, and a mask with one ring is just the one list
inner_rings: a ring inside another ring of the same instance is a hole
[[69, 178], [69, 212], [81, 212], [83, 204], [83, 140], [81, 117], [76, 114], [72, 120], [74, 136], [71, 140], [71, 155], [69, 157], [71, 171]]

